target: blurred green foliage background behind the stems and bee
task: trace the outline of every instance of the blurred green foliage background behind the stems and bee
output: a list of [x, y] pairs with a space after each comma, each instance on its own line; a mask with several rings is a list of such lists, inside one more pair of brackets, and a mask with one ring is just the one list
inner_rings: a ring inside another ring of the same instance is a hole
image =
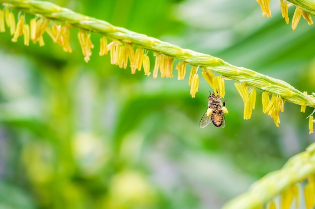
[[[278, 1], [269, 19], [256, 1], [53, 3], [315, 91], [315, 28], [301, 20], [292, 31]], [[210, 90], [202, 78], [191, 98], [187, 75], [131, 75], [98, 55], [98, 34], [85, 63], [77, 32], [71, 54], [47, 34], [41, 48], [0, 34], [1, 209], [219, 208], [314, 141], [311, 108], [285, 103], [276, 127], [261, 91], [243, 120], [234, 81], [225, 82], [225, 128], [200, 129]]]

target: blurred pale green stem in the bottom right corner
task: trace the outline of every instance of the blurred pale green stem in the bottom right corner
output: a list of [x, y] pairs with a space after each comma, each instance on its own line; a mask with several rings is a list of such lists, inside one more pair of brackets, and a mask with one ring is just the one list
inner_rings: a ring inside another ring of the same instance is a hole
[[249, 191], [228, 201], [222, 209], [263, 208], [262, 205], [273, 200], [290, 186], [307, 179], [314, 172], [315, 143], [312, 143], [306, 151], [291, 157], [282, 169], [268, 173], [256, 181]]

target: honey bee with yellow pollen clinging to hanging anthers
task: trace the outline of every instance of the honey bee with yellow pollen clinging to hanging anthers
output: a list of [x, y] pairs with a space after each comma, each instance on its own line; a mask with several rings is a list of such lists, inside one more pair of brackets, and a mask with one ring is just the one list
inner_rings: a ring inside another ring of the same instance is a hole
[[222, 102], [220, 100], [220, 95], [217, 94], [211, 94], [208, 97], [208, 109], [203, 114], [201, 120], [200, 120], [200, 128], [206, 127], [211, 121], [213, 125], [216, 127], [222, 126], [222, 128], [225, 126], [225, 119], [223, 113], [228, 113], [226, 107], [225, 107], [225, 100]]

